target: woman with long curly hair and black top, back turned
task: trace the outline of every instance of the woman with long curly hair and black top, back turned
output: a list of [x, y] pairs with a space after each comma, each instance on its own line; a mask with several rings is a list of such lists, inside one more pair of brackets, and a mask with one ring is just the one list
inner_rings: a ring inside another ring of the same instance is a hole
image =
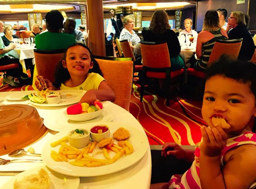
[[169, 49], [172, 71], [184, 68], [184, 61], [180, 56], [180, 43], [173, 30], [170, 30], [168, 15], [164, 10], [154, 12], [149, 29], [143, 29], [144, 41], [162, 42], [166, 41]]

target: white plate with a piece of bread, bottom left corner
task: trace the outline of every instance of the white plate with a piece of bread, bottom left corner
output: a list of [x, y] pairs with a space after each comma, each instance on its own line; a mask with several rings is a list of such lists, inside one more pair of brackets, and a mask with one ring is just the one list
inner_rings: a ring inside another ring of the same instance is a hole
[[16, 175], [7, 181], [2, 188], [77, 189], [79, 187], [79, 183], [79, 177], [63, 175], [48, 169], [46, 166], [40, 166]]

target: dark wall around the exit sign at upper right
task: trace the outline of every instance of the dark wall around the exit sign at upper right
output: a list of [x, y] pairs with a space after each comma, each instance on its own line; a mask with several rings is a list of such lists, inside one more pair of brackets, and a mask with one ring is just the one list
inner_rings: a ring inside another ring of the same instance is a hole
[[[236, 4], [237, 0], [201, 0], [201, 1], [198, 1], [196, 31], [202, 30], [204, 15], [206, 14], [207, 10], [210, 10], [210, 9], [217, 10], [218, 8], [225, 8], [227, 10], [227, 17], [230, 15], [230, 12], [232, 12], [232, 11], [242, 11], [245, 14], [247, 14], [248, 1], [249, 0], [245, 0], [245, 3], [242, 3], [242, 4]], [[251, 1], [255, 1], [255, 0], [251, 0]]]

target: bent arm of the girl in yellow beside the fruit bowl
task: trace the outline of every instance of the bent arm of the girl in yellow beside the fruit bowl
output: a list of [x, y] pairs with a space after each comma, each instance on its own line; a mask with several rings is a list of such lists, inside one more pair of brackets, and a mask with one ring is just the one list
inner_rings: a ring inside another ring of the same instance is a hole
[[80, 103], [87, 102], [90, 104], [97, 99], [101, 101], [115, 101], [116, 95], [108, 86], [106, 81], [102, 81], [99, 84], [98, 89], [91, 89], [87, 91], [86, 94], [84, 94], [83, 97], [80, 99]]

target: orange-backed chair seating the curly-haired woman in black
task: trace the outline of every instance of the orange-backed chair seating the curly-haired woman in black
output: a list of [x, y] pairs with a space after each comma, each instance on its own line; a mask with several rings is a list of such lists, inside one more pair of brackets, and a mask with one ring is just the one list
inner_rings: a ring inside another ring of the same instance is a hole
[[171, 61], [166, 42], [141, 41], [143, 60], [142, 75], [140, 76], [140, 102], [143, 100], [147, 78], [164, 79], [166, 83], [166, 106], [169, 106], [170, 85], [178, 76], [182, 76], [184, 69], [171, 71]]

